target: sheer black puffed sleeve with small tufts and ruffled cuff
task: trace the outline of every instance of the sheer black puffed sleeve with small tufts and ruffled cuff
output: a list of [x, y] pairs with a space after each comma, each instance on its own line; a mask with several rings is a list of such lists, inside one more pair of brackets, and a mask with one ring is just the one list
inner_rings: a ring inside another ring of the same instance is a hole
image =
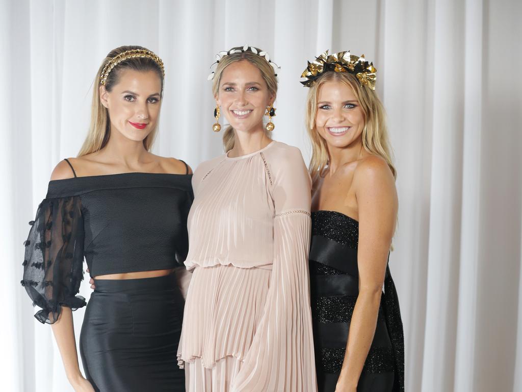
[[53, 324], [62, 306], [76, 310], [86, 305], [85, 298], [76, 295], [84, 261], [80, 197], [45, 199], [29, 224], [21, 284], [33, 305], [42, 308], [34, 317]]

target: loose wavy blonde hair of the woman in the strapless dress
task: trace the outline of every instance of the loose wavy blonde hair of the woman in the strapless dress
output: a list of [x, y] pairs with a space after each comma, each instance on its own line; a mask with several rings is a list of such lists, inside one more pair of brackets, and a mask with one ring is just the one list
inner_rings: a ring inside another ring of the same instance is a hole
[[317, 114], [317, 97], [319, 88], [326, 82], [340, 82], [353, 90], [364, 113], [364, 129], [362, 131], [362, 145], [370, 154], [378, 155], [386, 160], [392, 170], [394, 178], [397, 171], [392, 162], [388, 131], [386, 129], [386, 114], [384, 106], [374, 90], [361, 86], [357, 78], [349, 73], [328, 71], [319, 77], [310, 87], [306, 99], [306, 128], [312, 143], [312, 158], [310, 159], [310, 175], [312, 180], [318, 178], [329, 161], [326, 141], [317, 132], [315, 116]]

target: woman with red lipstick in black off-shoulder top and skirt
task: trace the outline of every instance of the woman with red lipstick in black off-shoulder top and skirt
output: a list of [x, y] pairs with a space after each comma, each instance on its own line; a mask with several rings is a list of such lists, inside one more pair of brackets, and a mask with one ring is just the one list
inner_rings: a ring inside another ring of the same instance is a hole
[[[183, 297], [174, 269], [187, 255], [189, 167], [149, 152], [163, 93], [163, 63], [141, 47], [104, 59], [91, 129], [78, 158], [58, 164], [25, 243], [22, 285], [52, 324], [76, 391], [183, 391], [176, 365]], [[82, 264], [94, 278], [80, 335], [70, 310]]]

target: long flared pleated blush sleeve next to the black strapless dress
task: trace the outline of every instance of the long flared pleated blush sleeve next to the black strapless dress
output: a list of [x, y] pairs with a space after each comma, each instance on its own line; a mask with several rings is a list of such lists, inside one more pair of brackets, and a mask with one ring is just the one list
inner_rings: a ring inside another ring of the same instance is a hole
[[263, 157], [272, 182], [274, 263], [262, 320], [233, 391], [316, 391], [310, 310], [311, 180], [298, 148]]

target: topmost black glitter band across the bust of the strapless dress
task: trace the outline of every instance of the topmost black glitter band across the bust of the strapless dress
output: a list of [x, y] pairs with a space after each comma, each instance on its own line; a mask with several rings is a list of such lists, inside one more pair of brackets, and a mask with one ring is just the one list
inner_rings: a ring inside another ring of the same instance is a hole
[[357, 249], [359, 222], [340, 212], [315, 211], [312, 213], [312, 235], [320, 235]]

